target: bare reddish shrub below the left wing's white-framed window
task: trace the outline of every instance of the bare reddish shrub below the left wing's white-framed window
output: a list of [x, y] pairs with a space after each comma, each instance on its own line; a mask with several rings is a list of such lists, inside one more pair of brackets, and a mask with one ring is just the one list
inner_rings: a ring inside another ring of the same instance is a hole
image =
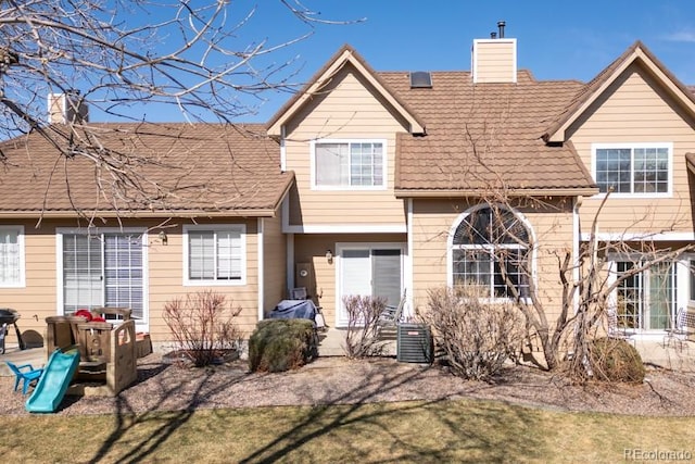
[[181, 353], [202, 367], [220, 352], [238, 348], [241, 331], [235, 318], [240, 312], [241, 308], [227, 305], [224, 294], [206, 290], [167, 301], [164, 321]]

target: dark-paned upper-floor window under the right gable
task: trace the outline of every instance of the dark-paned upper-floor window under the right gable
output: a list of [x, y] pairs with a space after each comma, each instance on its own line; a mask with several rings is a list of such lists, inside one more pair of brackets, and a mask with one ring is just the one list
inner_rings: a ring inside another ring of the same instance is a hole
[[671, 143], [594, 146], [594, 175], [599, 191], [669, 195], [672, 151]]

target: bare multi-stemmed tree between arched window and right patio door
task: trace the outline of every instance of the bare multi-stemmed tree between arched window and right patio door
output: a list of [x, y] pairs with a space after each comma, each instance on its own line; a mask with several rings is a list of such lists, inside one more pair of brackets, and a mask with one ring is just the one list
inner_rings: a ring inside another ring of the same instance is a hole
[[[690, 243], [659, 248], [649, 236], [635, 240], [634, 237], [628, 237], [627, 233], [618, 234], [611, 240], [601, 240], [601, 213], [609, 197], [609, 193], [604, 197], [601, 206], [591, 218], [590, 233], [586, 240], [578, 243], [578, 254], [572, 251], [574, 247], [545, 250], [555, 256], [556, 276], [561, 285], [559, 303], [556, 299], [548, 298], [557, 290], [548, 288], [549, 279], [545, 279], [545, 287], [539, 285], [539, 276], [533, 271], [532, 254], [542, 248], [543, 238], [534, 241], [533, 236], [527, 234], [510, 213], [520, 209], [539, 210], [553, 206], [542, 198], [514, 196], [504, 188], [488, 189], [480, 198], [480, 202], [489, 206], [492, 218], [489, 224], [492, 233], [489, 237], [493, 240], [488, 246], [494, 274], [498, 278], [494, 287], [500, 294], [491, 297], [504, 297], [513, 301], [525, 315], [529, 339], [538, 340], [545, 366], [556, 369], [563, 365], [563, 359], [566, 356], [569, 359], [568, 375], [576, 380], [587, 378], [592, 372], [592, 340], [609, 335], [608, 312], [620, 313], [612, 315], [619, 318], [620, 325], [627, 325], [630, 317], [635, 317], [626, 314], [626, 311], [636, 311], [635, 309], [627, 310], [624, 303], [622, 308], [617, 308], [616, 294], [626, 283], [657, 266], [673, 266], [679, 256], [695, 249], [695, 246]], [[647, 215], [648, 213], [645, 213], [637, 223], [647, 221]], [[480, 224], [476, 218], [470, 220], [470, 223]], [[634, 224], [627, 225], [626, 230], [631, 226]], [[667, 229], [670, 226], [667, 225]], [[470, 229], [467, 233], [471, 235], [470, 242], [480, 241], [478, 231]], [[477, 236], [473, 237], [473, 234]], [[548, 237], [552, 234], [555, 234], [554, 226], [551, 226], [544, 236]], [[623, 260], [630, 265], [618, 272], [611, 271], [610, 259], [616, 255], [624, 256]], [[673, 312], [674, 309], [670, 308], [669, 311]], [[672, 316], [673, 314], [665, 315], [666, 324], [671, 322]]]

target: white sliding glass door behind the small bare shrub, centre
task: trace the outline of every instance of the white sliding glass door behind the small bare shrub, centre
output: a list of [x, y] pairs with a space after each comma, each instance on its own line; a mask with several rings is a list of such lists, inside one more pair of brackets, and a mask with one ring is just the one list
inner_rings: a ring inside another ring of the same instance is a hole
[[344, 297], [380, 297], [387, 300], [387, 304], [399, 304], [403, 294], [404, 249], [400, 243], [343, 243], [337, 247], [337, 327], [348, 325]]

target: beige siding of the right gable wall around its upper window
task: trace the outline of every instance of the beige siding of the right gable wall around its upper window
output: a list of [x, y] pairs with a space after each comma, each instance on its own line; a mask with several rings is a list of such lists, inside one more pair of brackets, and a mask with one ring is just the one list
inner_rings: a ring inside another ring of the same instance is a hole
[[[673, 143], [671, 198], [608, 199], [599, 217], [603, 233], [692, 231], [691, 193], [685, 153], [695, 151], [693, 121], [675, 106], [659, 85], [633, 64], [570, 127], [569, 137], [587, 170], [592, 143]], [[601, 200], [584, 199], [583, 230], [587, 231]]]

